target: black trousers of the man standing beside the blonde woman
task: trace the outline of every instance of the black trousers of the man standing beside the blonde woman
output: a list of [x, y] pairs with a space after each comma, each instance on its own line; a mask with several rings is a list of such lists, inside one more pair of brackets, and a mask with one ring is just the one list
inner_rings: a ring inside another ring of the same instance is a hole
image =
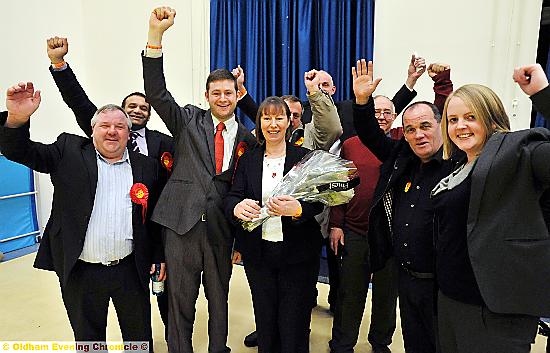
[[435, 353], [435, 281], [416, 278], [399, 268], [399, 310], [407, 353]]

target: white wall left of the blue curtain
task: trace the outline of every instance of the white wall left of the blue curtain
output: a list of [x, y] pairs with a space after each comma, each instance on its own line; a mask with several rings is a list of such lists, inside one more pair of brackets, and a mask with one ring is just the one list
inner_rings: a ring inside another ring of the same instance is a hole
[[[5, 110], [7, 87], [33, 81], [42, 91], [42, 104], [32, 118], [31, 137], [53, 142], [63, 131], [82, 134], [48, 71], [46, 39], [55, 35], [69, 38], [66, 59], [96, 105], [120, 104], [126, 94], [143, 91], [140, 51], [147, 41], [151, 10], [160, 5], [177, 10], [175, 24], [163, 43], [168, 88], [182, 105], [204, 105], [204, 83], [210, 71], [208, 0], [173, 4], [158, 0], [27, 0], [0, 2], [0, 31], [5, 41], [0, 55], [0, 109]], [[149, 125], [166, 131], [156, 114]], [[51, 210], [53, 187], [48, 175], [37, 174], [36, 180], [43, 228]]]

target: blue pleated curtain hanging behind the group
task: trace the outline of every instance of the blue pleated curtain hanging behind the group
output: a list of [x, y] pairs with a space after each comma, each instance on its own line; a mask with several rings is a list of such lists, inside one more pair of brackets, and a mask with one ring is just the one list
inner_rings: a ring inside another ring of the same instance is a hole
[[211, 0], [210, 67], [240, 64], [258, 101], [305, 100], [304, 72], [322, 69], [335, 101], [350, 99], [351, 66], [372, 59], [373, 31], [374, 0]]

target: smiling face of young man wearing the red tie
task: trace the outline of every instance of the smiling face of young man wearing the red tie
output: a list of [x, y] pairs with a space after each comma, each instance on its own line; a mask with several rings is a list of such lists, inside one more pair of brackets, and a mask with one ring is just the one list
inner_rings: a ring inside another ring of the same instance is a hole
[[220, 121], [226, 121], [233, 116], [237, 108], [237, 90], [235, 81], [218, 80], [209, 83], [205, 92], [212, 114]]

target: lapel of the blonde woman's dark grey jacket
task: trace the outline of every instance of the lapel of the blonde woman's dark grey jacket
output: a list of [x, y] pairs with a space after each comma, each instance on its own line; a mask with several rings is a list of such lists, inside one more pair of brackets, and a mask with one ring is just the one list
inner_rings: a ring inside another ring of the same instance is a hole
[[500, 145], [506, 135], [503, 133], [495, 133], [489, 138], [483, 151], [476, 161], [474, 170], [472, 172], [472, 187], [470, 191], [470, 205], [468, 210], [468, 224], [467, 234], [468, 237], [472, 233], [479, 215], [479, 208], [481, 205], [481, 195], [485, 188], [485, 182], [487, 175], [491, 169], [491, 165], [495, 159], [495, 156], [500, 149]]

